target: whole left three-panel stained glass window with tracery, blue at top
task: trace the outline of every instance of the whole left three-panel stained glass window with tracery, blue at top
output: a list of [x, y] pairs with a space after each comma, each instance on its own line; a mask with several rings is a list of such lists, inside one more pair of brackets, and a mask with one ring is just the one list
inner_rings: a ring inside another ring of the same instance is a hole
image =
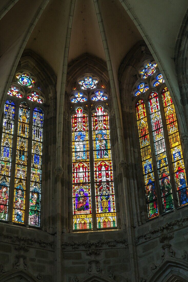
[[28, 72], [15, 80], [1, 127], [0, 219], [40, 227], [44, 98]]

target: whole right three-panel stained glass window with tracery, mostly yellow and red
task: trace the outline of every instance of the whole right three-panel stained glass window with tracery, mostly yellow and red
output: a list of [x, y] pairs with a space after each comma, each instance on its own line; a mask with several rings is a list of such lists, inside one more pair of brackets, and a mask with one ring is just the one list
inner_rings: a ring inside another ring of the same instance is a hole
[[[176, 112], [155, 62], [139, 70], [133, 91], [148, 218], [188, 204]], [[174, 189], [176, 187], [176, 189]]]

